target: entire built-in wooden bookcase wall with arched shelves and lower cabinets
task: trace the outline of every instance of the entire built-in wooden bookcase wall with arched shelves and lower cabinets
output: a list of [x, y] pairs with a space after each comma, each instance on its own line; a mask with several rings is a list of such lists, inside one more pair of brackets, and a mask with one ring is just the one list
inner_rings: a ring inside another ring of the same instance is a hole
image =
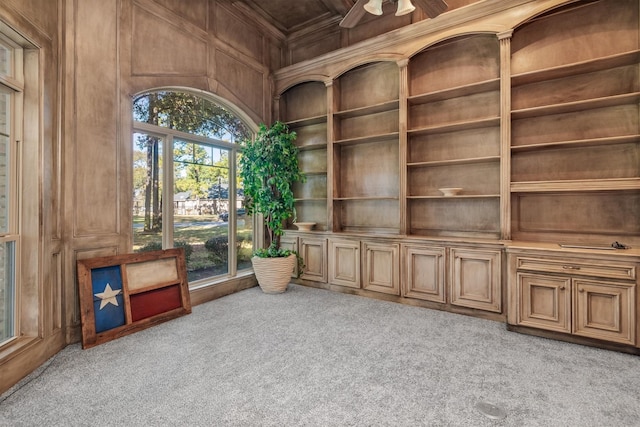
[[[637, 343], [633, 251], [598, 248], [640, 247], [640, 3], [497, 3], [275, 72], [316, 173], [298, 216], [329, 239], [330, 284]], [[559, 243], [589, 262], [564, 268]], [[506, 277], [503, 248], [523, 263]]]

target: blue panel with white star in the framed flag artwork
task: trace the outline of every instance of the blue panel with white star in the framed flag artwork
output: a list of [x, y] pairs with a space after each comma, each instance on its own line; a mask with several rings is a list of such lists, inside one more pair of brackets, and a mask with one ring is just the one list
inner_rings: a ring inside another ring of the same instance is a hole
[[125, 323], [120, 266], [91, 270], [93, 311], [96, 333], [117, 328]]

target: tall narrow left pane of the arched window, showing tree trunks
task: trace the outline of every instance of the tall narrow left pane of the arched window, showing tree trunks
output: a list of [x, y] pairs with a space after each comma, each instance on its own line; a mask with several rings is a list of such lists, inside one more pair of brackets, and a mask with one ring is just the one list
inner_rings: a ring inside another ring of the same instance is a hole
[[162, 138], [133, 134], [133, 249], [162, 249]]

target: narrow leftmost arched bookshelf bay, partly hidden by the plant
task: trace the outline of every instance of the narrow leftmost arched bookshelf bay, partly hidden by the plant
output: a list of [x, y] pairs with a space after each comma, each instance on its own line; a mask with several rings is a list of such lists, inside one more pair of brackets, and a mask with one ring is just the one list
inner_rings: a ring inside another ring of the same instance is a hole
[[296, 132], [298, 161], [307, 177], [293, 188], [297, 220], [327, 230], [327, 87], [323, 82], [300, 83], [279, 101], [280, 119]]

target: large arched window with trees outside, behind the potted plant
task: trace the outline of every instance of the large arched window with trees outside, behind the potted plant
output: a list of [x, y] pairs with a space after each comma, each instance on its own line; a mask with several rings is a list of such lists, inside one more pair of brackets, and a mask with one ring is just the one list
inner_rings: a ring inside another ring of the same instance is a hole
[[189, 91], [133, 101], [133, 250], [184, 247], [191, 285], [251, 267], [236, 163], [252, 129], [241, 114]]

